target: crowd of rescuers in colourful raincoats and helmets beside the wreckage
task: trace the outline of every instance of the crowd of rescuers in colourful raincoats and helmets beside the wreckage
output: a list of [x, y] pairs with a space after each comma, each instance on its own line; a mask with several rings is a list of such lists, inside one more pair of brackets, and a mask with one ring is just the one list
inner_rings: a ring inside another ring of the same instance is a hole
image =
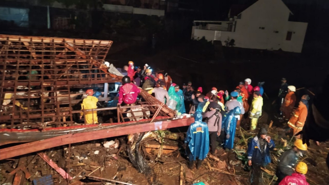
[[[134, 104], [142, 89], [149, 94], [154, 94], [156, 99], [176, 110], [177, 114], [187, 113], [194, 117], [195, 122], [189, 126], [185, 139], [190, 169], [193, 169], [194, 161], [197, 161], [196, 168], [200, 167], [209, 148], [213, 155], [216, 155], [218, 145], [226, 150], [233, 149], [235, 130], [239, 129], [243, 118], [246, 118], [250, 131], [255, 131], [258, 119], [262, 116], [264, 82], [259, 82], [256, 87], [253, 87], [251, 79], [247, 78], [244, 82], [238, 83], [231, 93], [224, 90], [218, 91], [216, 87], [204, 93], [202, 87], [198, 87], [195, 91], [191, 82], [183, 84], [180, 89], [180, 86], [173, 83], [167, 73], [152, 74], [147, 64], [141, 69], [134, 67], [134, 62], [130, 61], [128, 66], [124, 66], [124, 71], [127, 71], [127, 75], [123, 77], [122, 86], [119, 89], [119, 104]], [[289, 86], [286, 79], [282, 78], [277, 99], [280, 107], [278, 110], [282, 115], [280, 119], [287, 122], [285, 131], [292, 132], [293, 135], [303, 129], [309, 106], [309, 97], [304, 95], [298, 108], [294, 110], [295, 91], [296, 88]], [[91, 92], [87, 94], [93, 95]], [[94, 107], [86, 105], [87, 101], [90, 103], [93, 98], [86, 98], [82, 106]], [[89, 114], [95, 116], [93, 112]], [[277, 171], [280, 185], [290, 185], [297, 181], [302, 182], [300, 183], [302, 185], [307, 184], [304, 176], [307, 165], [303, 162], [296, 164], [297, 158], [303, 156], [303, 152], [307, 150], [307, 145], [302, 144], [299, 136], [296, 138], [294, 147], [285, 151], [280, 158]], [[261, 166], [266, 166], [271, 162], [270, 150], [274, 148], [275, 143], [267, 135], [266, 128], [260, 128], [258, 134], [250, 139], [247, 153], [248, 165], [252, 167], [249, 178], [252, 185], [258, 185], [261, 182]]]

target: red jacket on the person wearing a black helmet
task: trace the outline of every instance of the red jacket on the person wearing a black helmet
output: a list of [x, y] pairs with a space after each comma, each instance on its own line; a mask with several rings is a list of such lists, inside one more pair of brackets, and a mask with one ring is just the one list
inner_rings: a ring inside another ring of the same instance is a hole
[[126, 104], [135, 103], [138, 93], [141, 93], [141, 90], [133, 84], [125, 84], [121, 86], [119, 90], [119, 103], [122, 103], [122, 101]]

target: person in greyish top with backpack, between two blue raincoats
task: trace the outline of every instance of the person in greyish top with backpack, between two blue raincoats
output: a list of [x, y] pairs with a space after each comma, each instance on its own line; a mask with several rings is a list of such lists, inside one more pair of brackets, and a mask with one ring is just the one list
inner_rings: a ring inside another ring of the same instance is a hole
[[216, 110], [218, 104], [215, 101], [209, 103], [210, 111], [205, 112], [202, 118], [206, 119], [209, 131], [209, 140], [211, 144], [211, 154], [215, 155], [217, 153], [217, 137], [221, 135], [222, 130], [222, 114]]

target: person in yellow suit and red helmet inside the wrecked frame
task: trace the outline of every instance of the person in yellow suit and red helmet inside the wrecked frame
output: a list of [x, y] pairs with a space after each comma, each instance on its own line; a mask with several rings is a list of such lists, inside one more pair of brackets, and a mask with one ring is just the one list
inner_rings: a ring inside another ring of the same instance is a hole
[[[86, 91], [87, 97], [82, 101], [81, 103], [81, 110], [88, 110], [88, 109], [96, 109], [97, 108], [97, 102], [98, 98], [94, 97], [94, 91], [93, 90], [87, 90]], [[83, 111], [80, 113], [80, 119], [82, 119], [82, 116], [85, 114], [85, 123], [87, 125], [90, 124], [97, 124], [97, 111]]]

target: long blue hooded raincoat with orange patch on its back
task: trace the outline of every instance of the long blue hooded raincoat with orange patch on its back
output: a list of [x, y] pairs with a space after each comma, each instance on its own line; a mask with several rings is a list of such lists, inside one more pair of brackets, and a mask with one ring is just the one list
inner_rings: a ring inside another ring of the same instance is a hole
[[188, 144], [186, 152], [190, 161], [196, 158], [203, 160], [209, 151], [209, 132], [207, 123], [202, 122], [201, 112], [195, 112], [195, 122], [188, 127], [185, 143]]

